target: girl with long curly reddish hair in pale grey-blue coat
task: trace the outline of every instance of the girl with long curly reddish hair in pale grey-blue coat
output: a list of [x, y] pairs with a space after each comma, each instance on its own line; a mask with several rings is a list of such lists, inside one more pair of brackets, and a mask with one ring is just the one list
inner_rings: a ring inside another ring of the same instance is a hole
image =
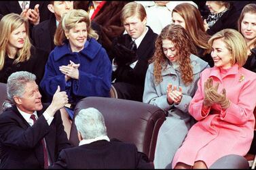
[[158, 133], [155, 168], [170, 166], [194, 121], [188, 106], [196, 93], [200, 72], [209, 65], [193, 53], [196, 47], [180, 25], [168, 25], [156, 39], [156, 51], [145, 78], [143, 102], [168, 112]]

